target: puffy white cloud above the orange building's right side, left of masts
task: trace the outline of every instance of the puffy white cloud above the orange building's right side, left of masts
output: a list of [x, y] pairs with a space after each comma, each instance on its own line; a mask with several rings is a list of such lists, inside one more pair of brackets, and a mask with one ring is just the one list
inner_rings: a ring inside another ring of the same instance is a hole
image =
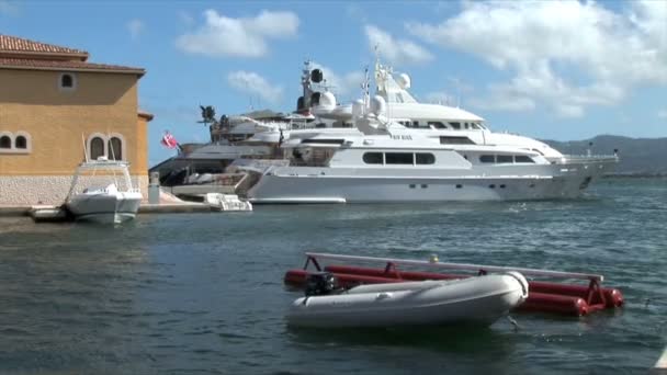
[[233, 19], [215, 10], [204, 12], [205, 24], [177, 38], [177, 47], [191, 54], [208, 56], [261, 57], [267, 39], [296, 35], [298, 16], [292, 12], [261, 11], [255, 18]]

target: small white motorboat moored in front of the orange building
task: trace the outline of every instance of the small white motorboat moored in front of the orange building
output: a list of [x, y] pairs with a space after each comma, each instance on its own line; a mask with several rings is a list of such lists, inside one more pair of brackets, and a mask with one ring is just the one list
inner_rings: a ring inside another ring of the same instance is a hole
[[[115, 175], [118, 171], [123, 177], [122, 191]], [[92, 175], [82, 175], [86, 172], [92, 172]], [[113, 182], [104, 188], [87, 188], [78, 192], [81, 180], [98, 184], [105, 179], [113, 179]], [[127, 162], [100, 158], [79, 164], [65, 207], [77, 220], [118, 224], [135, 218], [142, 200], [140, 191], [132, 185]]]

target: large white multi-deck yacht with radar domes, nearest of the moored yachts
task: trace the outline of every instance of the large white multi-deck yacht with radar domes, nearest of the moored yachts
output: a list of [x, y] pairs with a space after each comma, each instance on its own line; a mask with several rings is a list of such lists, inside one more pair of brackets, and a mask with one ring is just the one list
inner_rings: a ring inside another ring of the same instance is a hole
[[378, 84], [378, 94], [370, 98], [366, 80], [364, 99], [349, 110], [336, 105], [330, 92], [310, 96], [309, 106], [305, 100], [316, 116], [349, 120], [353, 127], [292, 132], [281, 143], [290, 164], [260, 172], [248, 197], [255, 203], [576, 197], [618, 162], [615, 155], [566, 157], [528, 137], [493, 133], [465, 111], [417, 103], [406, 90], [409, 80], [400, 76], [397, 82], [391, 70], [380, 71], [386, 76], [377, 81], [386, 84]]

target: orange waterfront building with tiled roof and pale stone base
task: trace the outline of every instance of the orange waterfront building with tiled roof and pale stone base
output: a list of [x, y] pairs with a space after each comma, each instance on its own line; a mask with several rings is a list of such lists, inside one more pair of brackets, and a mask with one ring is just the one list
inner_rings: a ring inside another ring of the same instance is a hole
[[0, 205], [60, 204], [76, 167], [99, 157], [128, 161], [148, 196], [146, 71], [88, 58], [0, 34]]

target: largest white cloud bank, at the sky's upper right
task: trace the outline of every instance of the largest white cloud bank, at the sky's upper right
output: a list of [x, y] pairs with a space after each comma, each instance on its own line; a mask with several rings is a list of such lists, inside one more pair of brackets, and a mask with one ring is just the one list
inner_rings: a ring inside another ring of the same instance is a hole
[[667, 1], [633, 1], [614, 12], [596, 2], [464, 2], [440, 24], [408, 23], [427, 42], [510, 71], [476, 105], [566, 117], [618, 103], [636, 87], [667, 83]]

